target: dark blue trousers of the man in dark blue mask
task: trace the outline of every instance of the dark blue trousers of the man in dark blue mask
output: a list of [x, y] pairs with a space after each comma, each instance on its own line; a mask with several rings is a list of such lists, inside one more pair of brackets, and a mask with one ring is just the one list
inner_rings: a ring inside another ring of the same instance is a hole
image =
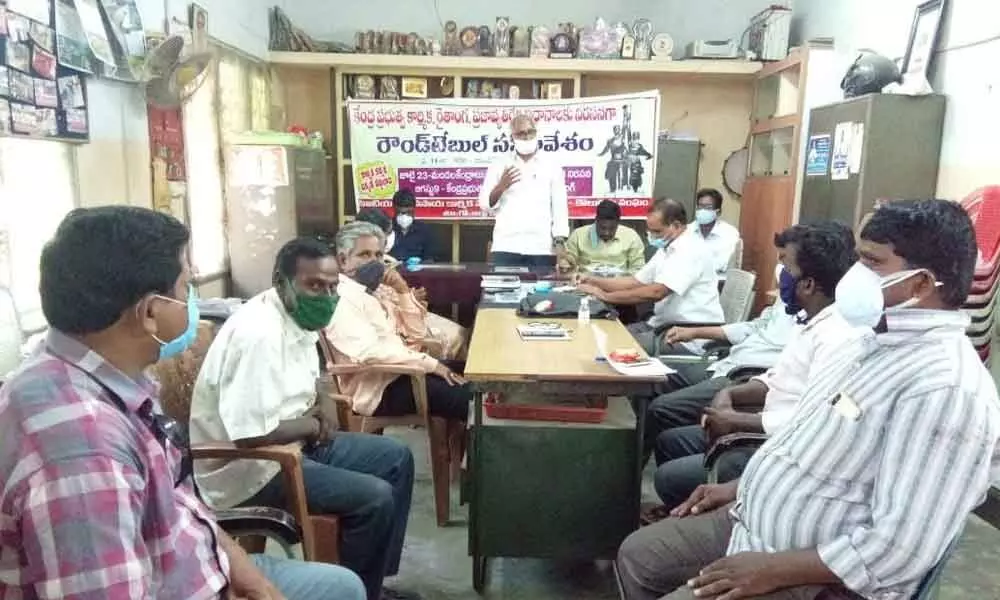
[[[696, 487], [706, 483], [707, 450], [708, 437], [698, 425], [670, 429], [656, 438], [653, 451], [658, 466], [653, 484], [668, 510], [687, 500]], [[739, 477], [753, 453], [753, 448], [734, 448], [720, 456], [715, 463], [718, 482]]]

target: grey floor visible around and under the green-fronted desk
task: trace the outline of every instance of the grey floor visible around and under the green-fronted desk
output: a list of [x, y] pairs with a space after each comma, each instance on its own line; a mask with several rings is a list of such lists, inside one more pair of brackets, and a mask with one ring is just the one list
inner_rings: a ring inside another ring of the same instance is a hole
[[[420, 592], [426, 600], [477, 598], [472, 590], [472, 561], [467, 555], [465, 510], [453, 496], [453, 526], [439, 528], [423, 431], [393, 431], [414, 450], [417, 485], [407, 533], [403, 568], [391, 585]], [[1000, 532], [979, 519], [970, 520], [957, 552], [948, 563], [940, 600], [1000, 599]], [[609, 564], [559, 563], [528, 559], [491, 562], [485, 598], [491, 600], [614, 600]]]

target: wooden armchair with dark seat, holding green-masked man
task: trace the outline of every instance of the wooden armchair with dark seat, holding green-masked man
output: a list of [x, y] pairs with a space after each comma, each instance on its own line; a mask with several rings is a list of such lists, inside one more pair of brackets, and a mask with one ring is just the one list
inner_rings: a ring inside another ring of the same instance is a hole
[[[153, 372], [161, 385], [160, 402], [169, 416], [185, 426], [191, 417], [191, 394], [198, 371], [208, 348], [215, 339], [218, 325], [202, 321], [198, 325], [195, 343], [180, 356], [157, 363]], [[336, 398], [335, 398], [336, 399]], [[340, 399], [343, 401], [344, 399]], [[306, 504], [305, 481], [302, 476], [302, 451], [294, 444], [237, 448], [230, 443], [194, 444], [194, 460], [269, 460], [281, 466], [288, 512], [264, 507], [236, 508], [218, 513], [219, 524], [236, 536], [264, 536], [278, 541], [288, 551], [296, 539], [302, 543], [306, 560], [336, 564], [339, 561], [340, 527], [336, 515], [312, 515]], [[292, 533], [292, 523], [297, 527]], [[251, 552], [263, 551], [259, 540], [241, 540]]]

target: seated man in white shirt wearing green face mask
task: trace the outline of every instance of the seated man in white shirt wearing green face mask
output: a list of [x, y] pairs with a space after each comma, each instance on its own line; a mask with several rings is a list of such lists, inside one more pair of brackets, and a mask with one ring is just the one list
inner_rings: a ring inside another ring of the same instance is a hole
[[[391, 438], [337, 432], [333, 401], [316, 398], [318, 332], [337, 308], [338, 277], [326, 244], [311, 238], [285, 244], [274, 287], [226, 321], [205, 357], [192, 398], [191, 437], [247, 448], [301, 445], [310, 512], [343, 518], [343, 565], [361, 576], [369, 600], [411, 598], [383, 590], [382, 579], [399, 569], [413, 455]], [[285, 504], [274, 463], [206, 462], [196, 475], [219, 508]]]

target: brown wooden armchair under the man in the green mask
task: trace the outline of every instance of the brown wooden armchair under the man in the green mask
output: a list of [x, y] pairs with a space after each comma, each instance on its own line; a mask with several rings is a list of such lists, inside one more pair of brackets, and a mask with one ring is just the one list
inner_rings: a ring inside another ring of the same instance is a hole
[[[198, 371], [208, 348], [215, 339], [218, 325], [202, 321], [198, 337], [190, 349], [154, 367], [161, 385], [163, 410], [187, 427], [191, 417], [191, 394]], [[317, 388], [322, 390], [321, 385]], [[343, 399], [341, 399], [343, 400]], [[297, 445], [237, 448], [230, 443], [196, 444], [191, 447], [195, 460], [269, 460], [281, 466], [288, 500], [286, 507], [301, 529], [302, 553], [306, 560], [336, 564], [339, 562], [340, 527], [336, 515], [310, 515], [306, 504], [305, 482], [302, 477], [302, 452]], [[241, 539], [249, 551], [263, 550], [262, 539]]]

